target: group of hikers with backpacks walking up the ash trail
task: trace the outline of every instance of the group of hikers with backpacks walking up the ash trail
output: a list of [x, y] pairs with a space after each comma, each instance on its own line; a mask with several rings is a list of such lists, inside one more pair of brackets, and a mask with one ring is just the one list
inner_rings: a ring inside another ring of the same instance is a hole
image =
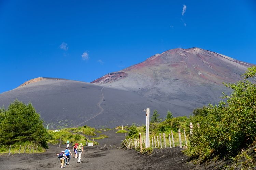
[[[56, 154], [58, 155], [58, 158], [60, 161], [60, 168], [64, 168], [66, 165], [70, 165], [70, 158], [71, 158], [70, 156], [72, 156], [72, 153], [69, 150], [69, 141], [67, 141], [66, 143], [67, 143], [66, 150], [61, 151], [60, 154]], [[73, 146], [73, 151], [74, 151], [74, 157], [78, 158], [77, 162], [78, 163], [81, 162], [81, 155], [84, 154], [83, 144], [75, 143], [75, 145]]]

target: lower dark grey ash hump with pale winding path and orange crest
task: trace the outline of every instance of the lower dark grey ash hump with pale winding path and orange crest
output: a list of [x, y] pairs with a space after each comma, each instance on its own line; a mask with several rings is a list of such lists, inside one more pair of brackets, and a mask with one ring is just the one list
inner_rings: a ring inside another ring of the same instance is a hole
[[36, 78], [0, 94], [0, 105], [31, 102], [50, 128], [88, 125], [95, 128], [145, 124], [145, 108], [166, 112], [168, 105], [135, 92], [57, 78]]

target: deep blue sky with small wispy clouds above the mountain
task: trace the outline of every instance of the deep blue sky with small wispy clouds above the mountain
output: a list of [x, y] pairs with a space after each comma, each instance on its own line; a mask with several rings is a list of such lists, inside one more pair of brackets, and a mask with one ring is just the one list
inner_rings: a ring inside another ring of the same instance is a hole
[[0, 93], [27, 80], [91, 82], [174, 48], [256, 64], [255, 0], [0, 0]]

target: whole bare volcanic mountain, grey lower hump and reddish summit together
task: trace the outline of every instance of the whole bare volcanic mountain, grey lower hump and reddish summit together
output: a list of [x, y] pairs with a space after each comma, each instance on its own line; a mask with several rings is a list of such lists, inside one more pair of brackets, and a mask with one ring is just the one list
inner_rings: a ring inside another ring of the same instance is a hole
[[15, 98], [31, 103], [52, 128], [145, 124], [143, 109], [170, 110], [184, 116], [193, 109], [216, 104], [222, 82], [241, 80], [252, 64], [200, 48], [173, 49], [146, 61], [85, 83], [66, 79], [36, 78], [0, 94], [0, 106]]

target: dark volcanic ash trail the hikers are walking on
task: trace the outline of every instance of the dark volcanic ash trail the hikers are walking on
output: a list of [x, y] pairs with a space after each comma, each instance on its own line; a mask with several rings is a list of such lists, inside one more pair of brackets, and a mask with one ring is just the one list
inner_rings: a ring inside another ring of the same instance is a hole
[[[74, 155], [71, 157], [70, 165], [66, 165], [65, 169], [91, 169], [91, 170], [148, 170], [148, 169], [205, 169], [202, 165], [193, 165], [189, 163], [189, 158], [182, 154], [180, 148], [154, 149], [151, 154], [140, 155], [134, 149], [118, 149], [124, 134], [115, 134], [116, 130], [103, 132], [109, 138], [99, 140], [100, 145], [85, 146], [84, 154], [81, 156], [80, 163]], [[108, 148], [104, 148], [104, 145]], [[70, 146], [72, 143], [70, 144]], [[112, 146], [112, 148], [110, 147]], [[1, 155], [1, 170], [54, 170], [60, 168], [57, 153], [65, 150], [66, 145], [49, 145], [49, 149], [44, 153], [34, 154], [8, 154]], [[70, 148], [73, 154], [73, 147]], [[211, 168], [210, 168], [211, 169]]]

